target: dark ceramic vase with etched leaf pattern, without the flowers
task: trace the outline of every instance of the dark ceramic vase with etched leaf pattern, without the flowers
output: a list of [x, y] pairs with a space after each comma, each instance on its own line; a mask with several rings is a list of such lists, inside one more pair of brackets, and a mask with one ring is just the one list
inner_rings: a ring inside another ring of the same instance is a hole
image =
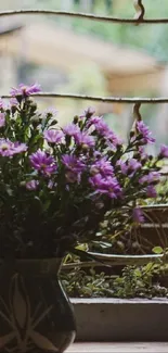
[[74, 341], [72, 305], [59, 281], [60, 260], [0, 266], [0, 352], [62, 353]]

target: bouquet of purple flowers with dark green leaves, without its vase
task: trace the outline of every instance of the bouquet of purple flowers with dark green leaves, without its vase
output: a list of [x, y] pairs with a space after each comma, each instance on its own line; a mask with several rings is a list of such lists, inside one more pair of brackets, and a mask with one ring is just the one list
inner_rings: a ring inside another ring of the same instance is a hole
[[[100, 223], [116, 210], [143, 222], [139, 204], [156, 197], [157, 157], [145, 153], [154, 138], [140, 121], [122, 143], [89, 108], [63, 128], [54, 111], [40, 113], [29, 97], [38, 85], [20, 85], [0, 101], [0, 256], [63, 256], [79, 243], [101, 241]], [[124, 225], [122, 225], [124, 228]]]

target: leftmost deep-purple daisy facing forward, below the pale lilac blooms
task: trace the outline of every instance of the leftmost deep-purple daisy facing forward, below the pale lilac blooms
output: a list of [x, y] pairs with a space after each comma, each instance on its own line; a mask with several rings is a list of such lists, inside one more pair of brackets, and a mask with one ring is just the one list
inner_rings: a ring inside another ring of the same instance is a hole
[[50, 154], [40, 149], [29, 156], [31, 166], [43, 175], [50, 176], [55, 173], [57, 166], [55, 160]]

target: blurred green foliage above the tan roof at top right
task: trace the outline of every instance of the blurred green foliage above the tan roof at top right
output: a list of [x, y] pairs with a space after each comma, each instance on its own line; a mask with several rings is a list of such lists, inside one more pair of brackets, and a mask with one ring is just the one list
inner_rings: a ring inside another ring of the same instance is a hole
[[[90, 12], [95, 14], [106, 14], [120, 17], [133, 17], [134, 9], [132, 0], [125, 0], [122, 5], [117, 7], [118, 0], [94, 0], [93, 5], [89, 8]], [[65, 3], [65, 1], [64, 1]], [[68, 1], [67, 1], [68, 3]], [[81, 11], [81, 1], [72, 1], [73, 7], [70, 11]], [[91, 3], [91, 1], [90, 1]], [[109, 5], [112, 3], [112, 5]], [[143, 1], [146, 17], [165, 17], [168, 14], [168, 1], [167, 0], [144, 0]], [[60, 10], [63, 9], [62, 0], [31, 0], [31, 5], [40, 7], [43, 9]], [[66, 7], [64, 5], [64, 10]], [[59, 24], [67, 25], [67, 18], [54, 17]], [[129, 45], [133, 48], [142, 48], [148, 53], [153, 54], [158, 61], [167, 62], [168, 46], [167, 46], [167, 33], [168, 25], [122, 25], [113, 23], [102, 23], [96, 21], [82, 21], [81, 18], [68, 18], [68, 25], [70, 25], [76, 31], [96, 36], [106, 41], [112, 41], [118, 45]]]

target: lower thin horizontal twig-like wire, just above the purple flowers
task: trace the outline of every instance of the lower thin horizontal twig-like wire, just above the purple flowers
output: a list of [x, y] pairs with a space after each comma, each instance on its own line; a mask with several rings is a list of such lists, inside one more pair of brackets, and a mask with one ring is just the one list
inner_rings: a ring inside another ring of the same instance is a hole
[[[95, 101], [102, 103], [143, 103], [143, 104], [158, 104], [158, 103], [168, 103], [168, 97], [160, 98], [127, 98], [127, 97], [101, 97], [101, 96], [86, 96], [86, 94], [72, 94], [72, 93], [55, 93], [55, 92], [41, 92], [41, 93], [33, 93], [30, 96], [39, 97], [39, 98], [66, 98], [66, 99], [78, 99], [78, 100], [88, 100]], [[3, 99], [10, 99], [12, 96], [3, 94], [1, 96]]]

